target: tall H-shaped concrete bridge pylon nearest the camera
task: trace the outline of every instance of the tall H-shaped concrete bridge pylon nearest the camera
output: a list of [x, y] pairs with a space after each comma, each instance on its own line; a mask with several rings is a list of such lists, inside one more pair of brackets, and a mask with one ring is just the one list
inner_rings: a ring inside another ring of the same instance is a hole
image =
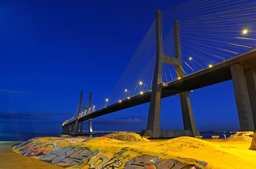
[[[162, 37], [162, 16], [159, 9], [155, 12], [156, 22], [156, 63], [154, 68], [154, 79], [151, 92], [151, 100], [148, 112], [147, 129], [142, 131], [142, 135], [149, 135], [150, 138], [163, 137], [163, 131], [160, 130], [160, 109], [161, 109], [161, 84], [162, 82], [162, 69], [163, 62], [174, 65], [177, 69], [178, 79], [184, 76], [182, 68], [181, 48], [180, 48], [180, 29], [179, 20], [174, 24], [174, 44], [175, 44], [175, 57], [168, 56], [163, 53], [163, 37]], [[189, 99], [189, 93], [180, 94], [180, 104], [183, 116], [184, 130], [182, 135], [195, 136], [199, 135], [195, 126], [194, 115]], [[174, 130], [167, 130], [167, 135], [173, 135]], [[168, 133], [170, 132], [170, 133]], [[166, 133], [166, 131], [165, 131]], [[173, 135], [174, 136], [174, 135]], [[172, 137], [172, 136], [170, 136]]]

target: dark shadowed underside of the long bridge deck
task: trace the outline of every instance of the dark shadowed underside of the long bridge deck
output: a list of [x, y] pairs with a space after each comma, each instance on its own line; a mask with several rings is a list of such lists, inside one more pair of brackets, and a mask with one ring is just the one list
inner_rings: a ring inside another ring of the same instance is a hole
[[[161, 98], [174, 96], [179, 93], [189, 92], [190, 90], [199, 89], [209, 85], [214, 85], [220, 82], [225, 82], [232, 79], [230, 66], [239, 64], [244, 67], [244, 72], [248, 70], [256, 71], [256, 50], [250, 51], [246, 54], [234, 57], [227, 61], [221, 62], [212, 68], [200, 70], [192, 73], [179, 80], [169, 82], [162, 87]], [[108, 113], [113, 113], [129, 107], [134, 107], [140, 104], [150, 102], [151, 92], [147, 91], [143, 95], [133, 96], [130, 99], [123, 100], [121, 103], [116, 103], [94, 113], [85, 115], [79, 118], [80, 121], [86, 121], [91, 118], [96, 118]], [[65, 124], [67, 125], [67, 124]]]

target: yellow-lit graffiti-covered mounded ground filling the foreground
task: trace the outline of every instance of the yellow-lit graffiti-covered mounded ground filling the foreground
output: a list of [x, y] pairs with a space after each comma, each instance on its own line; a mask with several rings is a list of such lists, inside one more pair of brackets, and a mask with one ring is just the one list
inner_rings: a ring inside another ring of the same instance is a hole
[[[134, 133], [109, 138], [35, 138], [13, 151], [72, 169], [254, 169], [251, 141], [179, 137], [146, 141]], [[119, 139], [119, 140], [116, 140]], [[128, 139], [129, 141], [120, 141]]]

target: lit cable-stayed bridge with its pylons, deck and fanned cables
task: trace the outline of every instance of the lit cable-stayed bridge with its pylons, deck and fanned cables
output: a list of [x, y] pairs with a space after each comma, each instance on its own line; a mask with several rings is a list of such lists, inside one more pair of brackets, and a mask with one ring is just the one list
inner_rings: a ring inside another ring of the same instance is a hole
[[[102, 106], [80, 99], [73, 116], [63, 124], [64, 134], [83, 131], [82, 121], [150, 102], [147, 129], [142, 135], [169, 137], [160, 130], [161, 98], [179, 96], [184, 131], [198, 135], [189, 93], [233, 80], [241, 131], [256, 124], [256, 2], [249, 0], [192, 0], [155, 12], [134, 56]], [[82, 97], [82, 94], [81, 94]], [[97, 106], [99, 107], [99, 106]], [[81, 133], [80, 133], [81, 134]]]

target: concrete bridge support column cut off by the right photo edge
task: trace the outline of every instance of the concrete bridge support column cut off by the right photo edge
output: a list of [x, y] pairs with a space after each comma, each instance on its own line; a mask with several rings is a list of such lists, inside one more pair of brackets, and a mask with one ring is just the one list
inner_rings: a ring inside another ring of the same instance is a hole
[[254, 130], [256, 130], [256, 74], [250, 70], [244, 73], [247, 84], [247, 90], [250, 100], [250, 107], [253, 115]]

